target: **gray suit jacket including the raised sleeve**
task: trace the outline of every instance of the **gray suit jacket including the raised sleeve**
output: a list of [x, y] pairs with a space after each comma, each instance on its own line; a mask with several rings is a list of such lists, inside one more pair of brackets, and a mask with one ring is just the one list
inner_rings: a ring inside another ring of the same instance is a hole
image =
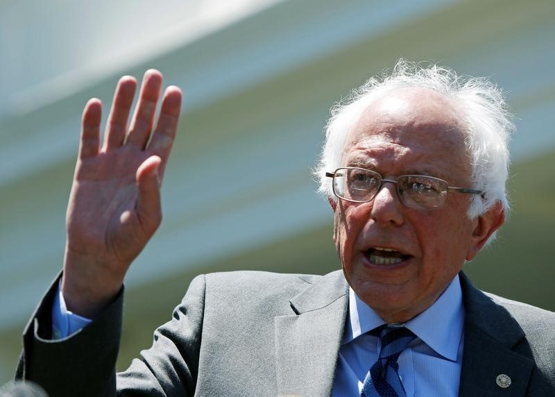
[[[555, 396], [555, 314], [486, 295], [461, 273], [460, 396]], [[198, 276], [173, 319], [115, 375], [122, 294], [92, 324], [50, 341], [51, 295], [24, 332], [17, 377], [51, 396], [329, 396], [348, 307], [340, 271]], [[508, 388], [496, 384], [508, 375]], [[441, 375], [438, 375], [441, 381]]]

